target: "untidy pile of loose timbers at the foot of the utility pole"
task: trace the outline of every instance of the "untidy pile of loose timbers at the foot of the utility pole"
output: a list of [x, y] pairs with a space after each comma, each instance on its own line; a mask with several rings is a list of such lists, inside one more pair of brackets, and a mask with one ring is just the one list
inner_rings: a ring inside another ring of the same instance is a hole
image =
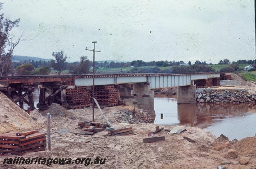
[[77, 134], [90, 134], [93, 135], [94, 133], [104, 131], [106, 127], [108, 127], [107, 124], [100, 124], [100, 122], [90, 122], [90, 121], [84, 121], [84, 122], [78, 122], [78, 126], [83, 128], [81, 129], [80, 133]]

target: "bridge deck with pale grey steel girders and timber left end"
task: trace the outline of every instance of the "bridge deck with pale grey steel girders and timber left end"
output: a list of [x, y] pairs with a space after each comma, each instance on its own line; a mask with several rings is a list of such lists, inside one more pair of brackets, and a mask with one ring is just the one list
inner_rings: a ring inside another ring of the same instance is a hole
[[[91, 86], [92, 74], [85, 75], [42, 75], [42, 76], [2, 76], [0, 84], [34, 84], [43, 82], [73, 82], [77, 86]], [[220, 73], [160, 73], [160, 74], [96, 74], [95, 85], [148, 82], [150, 88], [191, 85], [191, 80], [220, 77]]]

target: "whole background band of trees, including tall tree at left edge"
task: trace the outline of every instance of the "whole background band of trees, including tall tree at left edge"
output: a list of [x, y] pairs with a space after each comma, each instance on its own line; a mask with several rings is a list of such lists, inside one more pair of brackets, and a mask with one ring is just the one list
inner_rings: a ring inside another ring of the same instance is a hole
[[[3, 3], [0, 3], [0, 10], [2, 9]], [[88, 74], [90, 72], [90, 67], [92, 67], [92, 61], [90, 61], [86, 56], [81, 56], [80, 61], [68, 63], [67, 55], [64, 51], [53, 52], [52, 56], [54, 59], [50, 61], [34, 61], [25, 60], [23, 62], [12, 62], [14, 48], [22, 41], [21, 33], [18, 39], [14, 39], [15, 36], [11, 34], [12, 30], [18, 26], [20, 18], [11, 21], [4, 18], [4, 14], [0, 14], [0, 76], [6, 75], [46, 75], [55, 70], [59, 75], [64, 70], [68, 70], [71, 74]], [[222, 71], [233, 71], [238, 70], [239, 64], [253, 64], [255, 65], [256, 60], [237, 60], [237, 62], [232, 62], [230, 60], [224, 59], [220, 60], [219, 64], [230, 64], [227, 70]], [[209, 63], [211, 65], [212, 63]], [[187, 66], [185, 66], [187, 65]], [[165, 72], [212, 72], [214, 69], [211, 67], [206, 67], [208, 65], [206, 61], [196, 60], [194, 64], [191, 61], [185, 64], [184, 61], [149, 61], [145, 62], [143, 60], [133, 60], [131, 62], [107, 62], [107, 61], [96, 61], [95, 68], [123, 68], [123, 67], [135, 67], [131, 70], [131, 73], [161, 73], [158, 67], [173, 66], [164, 70]], [[157, 66], [154, 68], [138, 68], [143, 66]]]

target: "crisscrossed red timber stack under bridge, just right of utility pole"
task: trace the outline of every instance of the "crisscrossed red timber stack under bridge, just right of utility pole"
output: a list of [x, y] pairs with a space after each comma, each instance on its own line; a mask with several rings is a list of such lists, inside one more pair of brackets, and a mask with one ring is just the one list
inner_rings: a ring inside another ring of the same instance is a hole
[[94, 87], [94, 98], [100, 106], [117, 106], [118, 91], [114, 85], [100, 85]]

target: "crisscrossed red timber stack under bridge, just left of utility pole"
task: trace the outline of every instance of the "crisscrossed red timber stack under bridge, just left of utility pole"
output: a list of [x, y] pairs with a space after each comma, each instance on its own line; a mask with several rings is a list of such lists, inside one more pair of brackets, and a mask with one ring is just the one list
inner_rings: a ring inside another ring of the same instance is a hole
[[68, 109], [79, 109], [90, 106], [91, 96], [87, 87], [66, 89]]

